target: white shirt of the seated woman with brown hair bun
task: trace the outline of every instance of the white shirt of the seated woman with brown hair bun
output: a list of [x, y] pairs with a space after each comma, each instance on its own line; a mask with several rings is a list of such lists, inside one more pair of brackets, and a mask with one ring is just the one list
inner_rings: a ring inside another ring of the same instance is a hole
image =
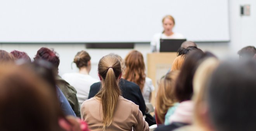
[[66, 73], [63, 74], [62, 78], [76, 89], [76, 97], [80, 106], [88, 99], [90, 86], [92, 86], [93, 83], [99, 82], [99, 80], [92, 76], [80, 73]]

